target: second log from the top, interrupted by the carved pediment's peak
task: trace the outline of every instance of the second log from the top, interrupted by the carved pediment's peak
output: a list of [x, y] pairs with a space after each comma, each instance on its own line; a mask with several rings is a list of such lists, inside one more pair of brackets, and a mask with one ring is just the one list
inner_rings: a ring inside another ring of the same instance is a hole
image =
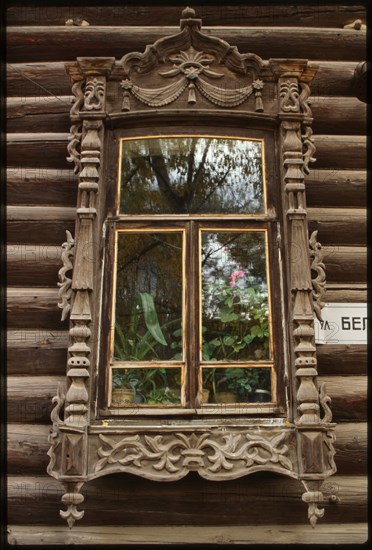
[[[132, 51], [143, 51], [156, 40], [177, 34], [179, 27], [159, 26], [37, 26], [9, 27], [7, 32], [10, 63], [67, 60], [78, 56], [121, 58]], [[296, 57], [361, 61], [366, 56], [366, 33], [351, 29], [303, 27], [211, 27], [203, 32], [252, 52], [263, 59]], [[99, 44], [99, 48], [97, 48]]]

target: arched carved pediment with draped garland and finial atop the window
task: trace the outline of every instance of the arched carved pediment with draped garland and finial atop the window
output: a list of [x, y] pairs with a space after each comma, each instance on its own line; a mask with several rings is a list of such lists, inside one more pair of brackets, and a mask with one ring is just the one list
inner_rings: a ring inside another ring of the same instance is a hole
[[132, 109], [131, 96], [152, 108], [169, 105], [186, 94], [188, 105], [202, 100], [233, 108], [253, 94], [251, 110], [263, 111], [263, 81], [257, 78], [263, 60], [253, 53], [241, 54], [236, 46], [203, 33], [194, 10], [186, 8], [182, 16], [179, 33], [119, 61], [126, 75], [121, 82], [122, 110]]

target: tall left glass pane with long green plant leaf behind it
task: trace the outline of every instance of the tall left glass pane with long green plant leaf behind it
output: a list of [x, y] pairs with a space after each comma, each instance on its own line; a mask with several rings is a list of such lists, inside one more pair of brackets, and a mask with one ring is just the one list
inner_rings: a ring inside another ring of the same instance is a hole
[[117, 237], [113, 360], [181, 360], [182, 233]]

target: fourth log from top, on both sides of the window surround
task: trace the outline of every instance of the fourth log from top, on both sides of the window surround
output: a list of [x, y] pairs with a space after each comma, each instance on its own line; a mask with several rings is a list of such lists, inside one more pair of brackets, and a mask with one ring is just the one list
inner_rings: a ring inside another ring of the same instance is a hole
[[[317, 134], [359, 135], [366, 131], [366, 105], [356, 98], [312, 95], [313, 131]], [[55, 132], [69, 127], [70, 96], [10, 97], [8, 132]]]

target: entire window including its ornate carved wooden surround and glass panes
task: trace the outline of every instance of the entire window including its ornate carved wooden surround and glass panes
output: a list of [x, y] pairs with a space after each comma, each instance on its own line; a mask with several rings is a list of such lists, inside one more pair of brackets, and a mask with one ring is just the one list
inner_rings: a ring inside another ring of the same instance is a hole
[[79, 193], [48, 472], [70, 527], [86, 481], [191, 470], [298, 479], [315, 525], [336, 470], [304, 178], [316, 68], [240, 54], [182, 16], [143, 54], [66, 65]]

